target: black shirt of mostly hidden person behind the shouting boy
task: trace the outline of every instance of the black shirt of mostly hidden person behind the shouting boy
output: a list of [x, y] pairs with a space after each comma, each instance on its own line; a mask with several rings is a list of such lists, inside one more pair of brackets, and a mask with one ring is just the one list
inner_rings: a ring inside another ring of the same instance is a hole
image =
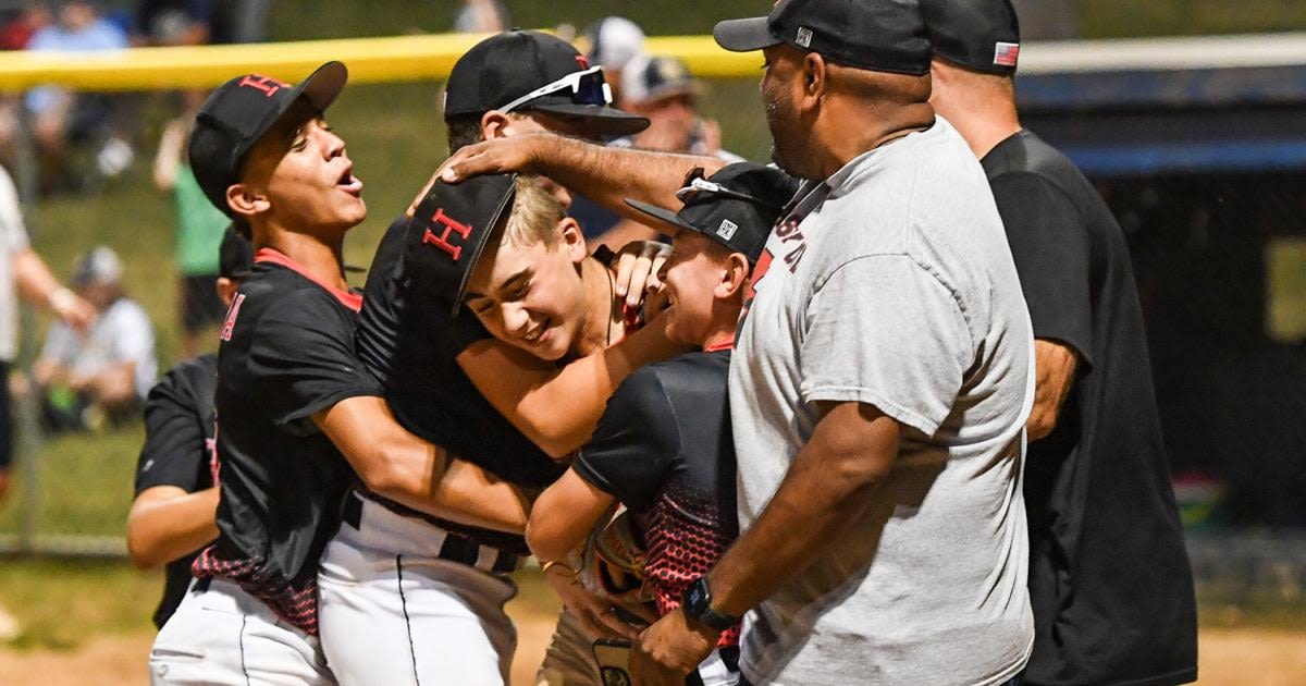
[[[214, 446], [213, 392], [218, 385], [218, 355], [185, 361], [159, 379], [145, 399], [145, 446], [136, 464], [136, 495], [154, 486], [185, 493], [213, 487], [218, 453]], [[162, 629], [176, 612], [191, 583], [191, 563], [200, 551], [166, 567], [163, 598], [154, 610]]]

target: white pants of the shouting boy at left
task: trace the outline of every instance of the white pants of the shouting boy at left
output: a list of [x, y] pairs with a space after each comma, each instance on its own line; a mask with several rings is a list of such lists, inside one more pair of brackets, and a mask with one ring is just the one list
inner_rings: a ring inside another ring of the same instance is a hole
[[150, 649], [153, 686], [329, 686], [316, 638], [240, 587], [213, 579], [187, 592]]

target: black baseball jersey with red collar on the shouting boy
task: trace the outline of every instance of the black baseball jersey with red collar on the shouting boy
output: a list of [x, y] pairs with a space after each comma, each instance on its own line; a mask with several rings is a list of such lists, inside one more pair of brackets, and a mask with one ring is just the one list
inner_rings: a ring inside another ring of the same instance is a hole
[[355, 482], [312, 416], [381, 395], [354, 349], [360, 304], [264, 248], [218, 346], [219, 534], [193, 572], [235, 581], [311, 635], [317, 561]]

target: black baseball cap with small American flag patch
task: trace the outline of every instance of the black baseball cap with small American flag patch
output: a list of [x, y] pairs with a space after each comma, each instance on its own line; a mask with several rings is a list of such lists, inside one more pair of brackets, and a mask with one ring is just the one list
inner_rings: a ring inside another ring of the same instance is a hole
[[1020, 20], [1011, 0], [922, 0], [934, 55], [973, 72], [1011, 76]]

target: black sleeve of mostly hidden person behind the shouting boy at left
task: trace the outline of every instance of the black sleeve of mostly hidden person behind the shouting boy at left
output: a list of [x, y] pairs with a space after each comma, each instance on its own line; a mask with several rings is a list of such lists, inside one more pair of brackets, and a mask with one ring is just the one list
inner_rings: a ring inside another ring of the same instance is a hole
[[145, 400], [145, 446], [136, 465], [136, 494], [153, 486], [176, 486], [195, 493], [209, 483], [200, 476], [208, 473], [212, 460], [206, 417], [201, 400], [184, 383], [176, 370], [154, 384]]

